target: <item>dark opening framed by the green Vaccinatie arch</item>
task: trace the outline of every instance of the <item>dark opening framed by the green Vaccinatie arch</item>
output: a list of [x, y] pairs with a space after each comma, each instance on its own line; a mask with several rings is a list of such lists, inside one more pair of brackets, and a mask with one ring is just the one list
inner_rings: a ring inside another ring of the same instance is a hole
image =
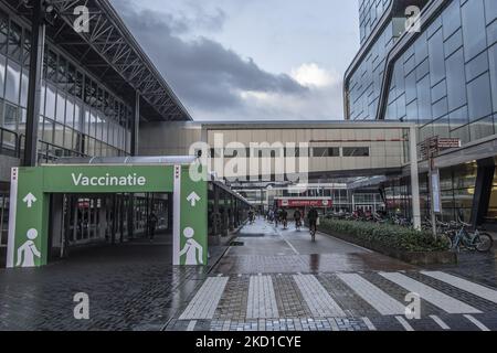
[[50, 258], [97, 245], [172, 244], [172, 193], [52, 194]]

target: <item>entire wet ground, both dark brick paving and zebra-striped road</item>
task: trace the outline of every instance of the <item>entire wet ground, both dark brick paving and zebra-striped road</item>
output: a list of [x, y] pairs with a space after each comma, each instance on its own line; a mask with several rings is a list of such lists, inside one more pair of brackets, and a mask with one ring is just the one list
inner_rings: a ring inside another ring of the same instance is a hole
[[[262, 220], [236, 243], [211, 247], [209, 268], [171, 266], [171, 245], [157, 239], [1, 269], [0, 330], [497, 330], [495, 253], [419, 268]], [[77, 292], [89, 297], [89, 320], [74, 319]], [[420, 320], [405, 319], [411, 292]]]

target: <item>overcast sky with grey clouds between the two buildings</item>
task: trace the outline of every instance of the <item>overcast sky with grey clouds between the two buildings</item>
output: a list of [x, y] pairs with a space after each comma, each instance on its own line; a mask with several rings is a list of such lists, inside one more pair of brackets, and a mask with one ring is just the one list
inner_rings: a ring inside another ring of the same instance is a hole
[[342, 119], [357, 0], [112, 0], [194, 120]]

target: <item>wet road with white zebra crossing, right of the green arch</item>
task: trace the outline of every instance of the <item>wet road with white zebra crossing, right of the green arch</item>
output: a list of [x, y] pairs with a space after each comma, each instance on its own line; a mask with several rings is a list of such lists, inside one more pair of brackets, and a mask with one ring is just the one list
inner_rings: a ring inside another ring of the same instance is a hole
[[[497, 330], [495, 253], [419, 268], [343, 240], [275, 228], [242, 229], [172, 331]], [[408, 320], [408, 295], [420, 319]]]

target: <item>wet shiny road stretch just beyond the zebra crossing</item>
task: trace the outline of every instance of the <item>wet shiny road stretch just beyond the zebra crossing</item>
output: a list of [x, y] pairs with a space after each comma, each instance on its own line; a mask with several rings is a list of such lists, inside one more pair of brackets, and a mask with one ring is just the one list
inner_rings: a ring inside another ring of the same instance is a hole
[[[256, 229], [256, 231], [254, 231]], [[251, 237], [246, 234], [264, 236]], [[233, 247], [215, 271], [219, 274], [292, 274], [409, 270], [414, 267], [343, 240], [318, 234], [316, 243], [306, 229], [275, 227], [258, 220], [241, 231], [244, 246]]]

